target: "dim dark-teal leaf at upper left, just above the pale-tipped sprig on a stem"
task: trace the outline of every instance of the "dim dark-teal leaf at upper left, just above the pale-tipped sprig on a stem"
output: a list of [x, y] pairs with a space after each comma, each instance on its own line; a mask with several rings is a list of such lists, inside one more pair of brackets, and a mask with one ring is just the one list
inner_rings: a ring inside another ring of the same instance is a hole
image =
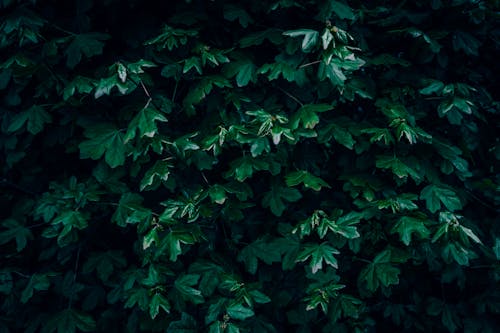
[[102, 33], [85, 33], [75, 35], [66, 49], [66, 66], [74, 68], [82, 60], [82, 55], [87, 58], [102, 54], [104, 43], [110, 36]]

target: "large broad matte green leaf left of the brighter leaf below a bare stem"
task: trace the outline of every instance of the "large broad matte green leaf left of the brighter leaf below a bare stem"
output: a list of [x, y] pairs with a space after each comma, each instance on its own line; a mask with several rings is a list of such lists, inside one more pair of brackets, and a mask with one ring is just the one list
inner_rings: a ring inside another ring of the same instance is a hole
[[122, 131], [111, 124], [98, 124], [85, 130], [87, 141], [78, 146], [81, 158], [98, 160], [104, 155], [106, 163], [116, 168], [125, 163], [125, 141]]

